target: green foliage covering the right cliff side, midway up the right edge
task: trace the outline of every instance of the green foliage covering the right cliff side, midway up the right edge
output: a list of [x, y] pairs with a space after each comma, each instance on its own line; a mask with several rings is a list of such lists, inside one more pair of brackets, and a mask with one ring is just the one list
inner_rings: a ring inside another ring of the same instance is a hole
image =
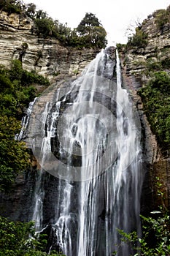
[[155, 72], [146, 86], [139, 89], [144, 111], [158, 143], [170, 149], [170, 77], [166, 72]]

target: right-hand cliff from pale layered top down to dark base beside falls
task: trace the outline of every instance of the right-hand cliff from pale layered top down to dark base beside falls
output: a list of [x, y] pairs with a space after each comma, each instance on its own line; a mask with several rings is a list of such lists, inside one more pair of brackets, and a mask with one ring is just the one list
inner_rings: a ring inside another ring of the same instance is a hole
[[[137, 91], [150, 78], [149, 73], [146, 72], [150, 63], [161, 63], [163, 60], [170, 59], [170, 23], [166, 23], [162, 29], [158, 29], [155, 18], [150, 15], [142, 23], [141, 30], [147, 34], [146, 47], [134, 46], [123, 49], [120, 56], [123, 85], [129, 90], [131, 97], [134, 99], [142, 124], [142, 144], [146, 168], [142, 210], [150, 212], [160, 205], [158, 182], [162, 184], [166, 206], [170, 206], [170, 158], [169, 154], [166, 157], [161, 154], [161, 148], [159, 148], [155, 135], [150, 129], [150, 124], [144, 113], [142, 99]], [[170, 67], [165, 67], [162, 70], [169, 72]], [[159, 177], [159, 181], [157, 177]]]

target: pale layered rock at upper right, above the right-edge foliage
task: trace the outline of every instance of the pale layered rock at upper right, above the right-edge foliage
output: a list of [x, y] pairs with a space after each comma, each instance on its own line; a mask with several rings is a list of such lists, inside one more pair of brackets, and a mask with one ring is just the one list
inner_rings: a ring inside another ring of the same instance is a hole
[[158, 29], [155, 18], [150, 15], [143, 21], [141, 30], [147, 34], [146, 47], [133, 47], [123, 56], [125, 75], [134, 77], [137, 87], [146, 83], [148, 77], [144, 70], [151, 60], [158, 62], [170, 58], [170, 23]]

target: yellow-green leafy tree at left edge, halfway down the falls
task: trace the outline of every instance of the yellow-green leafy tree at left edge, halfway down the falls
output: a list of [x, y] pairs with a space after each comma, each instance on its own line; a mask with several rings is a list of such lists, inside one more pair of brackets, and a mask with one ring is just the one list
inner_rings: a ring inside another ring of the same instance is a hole
[[15, 117], [0, 116], [0, 190], [7, 191], [16, 176], [28, 166], [29, 155], [25, 144], [14, 140], [20, 121]]

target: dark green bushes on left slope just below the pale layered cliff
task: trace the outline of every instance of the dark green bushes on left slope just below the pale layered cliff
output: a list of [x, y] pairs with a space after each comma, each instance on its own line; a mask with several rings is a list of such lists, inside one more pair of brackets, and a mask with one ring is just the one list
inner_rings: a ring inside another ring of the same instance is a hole
[[19, 60], [12, 61], [9, 70], [0, 67], [0, 114], [22, 116], [23, 108], [35, 97], [34, 83], [50, 84], [42, 75], [23, 70]]

